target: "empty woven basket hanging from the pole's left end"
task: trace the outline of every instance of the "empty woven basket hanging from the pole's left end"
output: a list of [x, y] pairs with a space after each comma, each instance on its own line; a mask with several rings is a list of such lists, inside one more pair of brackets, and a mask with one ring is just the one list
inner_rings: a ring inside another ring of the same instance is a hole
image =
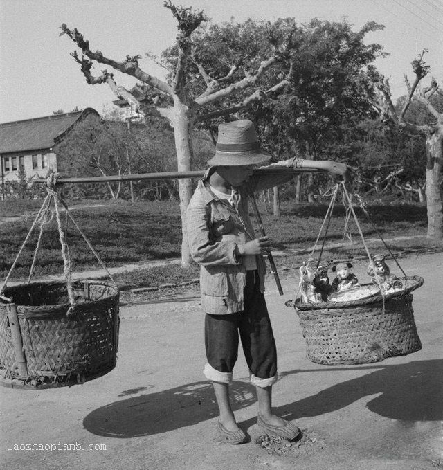
[[116, 365], [119, 293], [101, 281], [7, 287], [0, 300], [0, 384], [13, 388], [71, 386]]

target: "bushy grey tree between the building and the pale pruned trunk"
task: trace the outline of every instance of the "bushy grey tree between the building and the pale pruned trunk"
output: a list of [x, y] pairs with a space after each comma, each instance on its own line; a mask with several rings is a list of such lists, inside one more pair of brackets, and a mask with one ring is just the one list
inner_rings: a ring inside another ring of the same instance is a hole
[[[129, 129], [122, 121], [87, 116], [58, 145], [57, 154], [59, 170], [76, 177], [154, 173], [172, 170], [174, 141], [163, 119], [150, 117], [145, 123], [132, 123]], [[146, 195], [169, 187], [174, 192], [174, 188], [167, 185], [163, 181], [140, 183], [140, 191]], [[121, 181], [107, 183], [107, 191], [113, 199], [125, 195], [125, 188]], [[92, 192], [89, 196], [104, 196], [96, 186], [84, 186], [83, 195], [84, 191]]]

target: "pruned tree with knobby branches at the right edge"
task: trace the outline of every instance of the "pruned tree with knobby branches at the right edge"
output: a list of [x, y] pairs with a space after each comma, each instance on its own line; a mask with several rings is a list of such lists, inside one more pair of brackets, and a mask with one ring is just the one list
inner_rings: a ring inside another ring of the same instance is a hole
[[[392, 120], [395, 125], [405, 132], [424, 136], [426, 144], [426, 208], [428, 213], [427, 236], [435, 241], [443, 240], [442, 213], [442, 143], [443, 143], [443, 107], [441, 100], [433, 102], [433, 97], [442, 96], [442, 91], [436, 80], [431, 79], [428, 86], [421, 86], [423, 78], [428, 75], [430, 66], [426, 65], [423, 51], [416, 60], [411, 62], [415, 80], [410, 83], [405, 75], [408, 96], [401, 109], [397, 109], [391, 99], [389, 80], [377, 71], [372, 71], [374, 85], [379, 91], [377, 106], [381, 118]], [[411, 102], [419, 102], [426, 107], [431, 119], [427, 123], [414, 122], [407, 111]]]

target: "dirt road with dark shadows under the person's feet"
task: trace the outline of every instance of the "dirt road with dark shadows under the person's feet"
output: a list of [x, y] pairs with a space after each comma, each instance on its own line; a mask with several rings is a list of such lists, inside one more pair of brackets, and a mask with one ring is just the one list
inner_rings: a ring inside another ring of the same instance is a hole
[[[443, 468], [443, 253], [408, 257], [401, 266], [425, 278], [413, 302], [423, 348], [367, 365], [306, 359], [298, 317], [284, 306], [293, 297], [293, 280], [282, 281], [282, 297], [269, 280], [266, 300], [281, 374], [273, 401], [279, 415], [304, 431], [300, 444], [266, 449], [255, 443], [262, 432], [241, 352], [233, 406], [251, 442], [229, 446], [217, 440], [217, 406], [201, 373], [203, 314], [190, 293], [123, 307], [118, 363], [105, 377], [55, 390], [1, 388], [3, 468]], [[364, 271], [365, 263], [356, 263], [356, 275], [363, 279]], [[25, 449], [14, 450], [16, 444]], [[55, 449], [26, 450], [32, 444]], [[62, 450], [64, 444], [79, 450]]]

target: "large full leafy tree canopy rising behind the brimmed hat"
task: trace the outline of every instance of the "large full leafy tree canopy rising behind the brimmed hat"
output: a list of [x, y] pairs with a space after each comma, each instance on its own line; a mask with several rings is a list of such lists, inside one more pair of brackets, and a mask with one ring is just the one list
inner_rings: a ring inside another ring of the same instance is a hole
[[[370, 22], [354, 32], [347, 21], [319, 19], [299, 27], [294, 19], [286, 18], [273, 24], [251, 19], [238, 24], [231, 20], [201, 30], [194, 40], [195, 51], [199, 64], [211, 77], [231, 73], [229, 80], [239, 80], [242, 70], [231, 71], [230, 64], [243, 61], [244, 67], [251, 69], [254, 61], [271, 53], [272, 44], [288, 40], [291, 50], [258, 82], [264, 87], [286, 77], [283, 86], [261, 93], [260, 99], [250, 102], [247, 108], [235, 107], [242, 91], [213, 102], [200, 125], [214, 133], [217, 123], [225, 118], [220, 115], [224, 107], [253, 120], [262, 145], [277, 159], [294, 153], [307, 159], [333, 154], [345, 161], [354, 159], [355, 163], [351, 129], [362, 118], [375, 115], [367, 69], [383, 55], [379, 44], [366, 45], [363, 39], [379, 28], [383, 26]], [[176, 54], [170, 50], [164, 57], [173, 62]], [[193, 72], [190, 87], [204, 90], [201, 75], [197, 69]]]

